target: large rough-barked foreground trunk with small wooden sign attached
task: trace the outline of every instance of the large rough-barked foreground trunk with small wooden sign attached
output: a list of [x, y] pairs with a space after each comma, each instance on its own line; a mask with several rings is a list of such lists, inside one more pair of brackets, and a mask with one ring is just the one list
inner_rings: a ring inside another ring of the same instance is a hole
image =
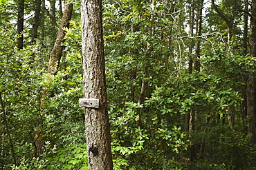
[[102, 1], [82, 0], [82, 64], [84, 98], [100, 100], [100, 108], [85, 109], [90, 170], [113, 169], [102, 30]]

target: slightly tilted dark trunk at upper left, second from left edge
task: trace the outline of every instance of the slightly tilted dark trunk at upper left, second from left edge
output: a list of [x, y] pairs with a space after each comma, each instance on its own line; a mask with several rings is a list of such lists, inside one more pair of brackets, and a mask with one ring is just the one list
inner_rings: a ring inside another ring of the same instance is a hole
[[31, 42], [32, 43], [35, 43], [35, 39], [37, 38], [37, 30], [39, 27], [41, 3], [42, 3], [42, 0], [37, 0], [36, 4], [35, 4], [35, 15], [34, 15], [33, 27], [31, 30]]

